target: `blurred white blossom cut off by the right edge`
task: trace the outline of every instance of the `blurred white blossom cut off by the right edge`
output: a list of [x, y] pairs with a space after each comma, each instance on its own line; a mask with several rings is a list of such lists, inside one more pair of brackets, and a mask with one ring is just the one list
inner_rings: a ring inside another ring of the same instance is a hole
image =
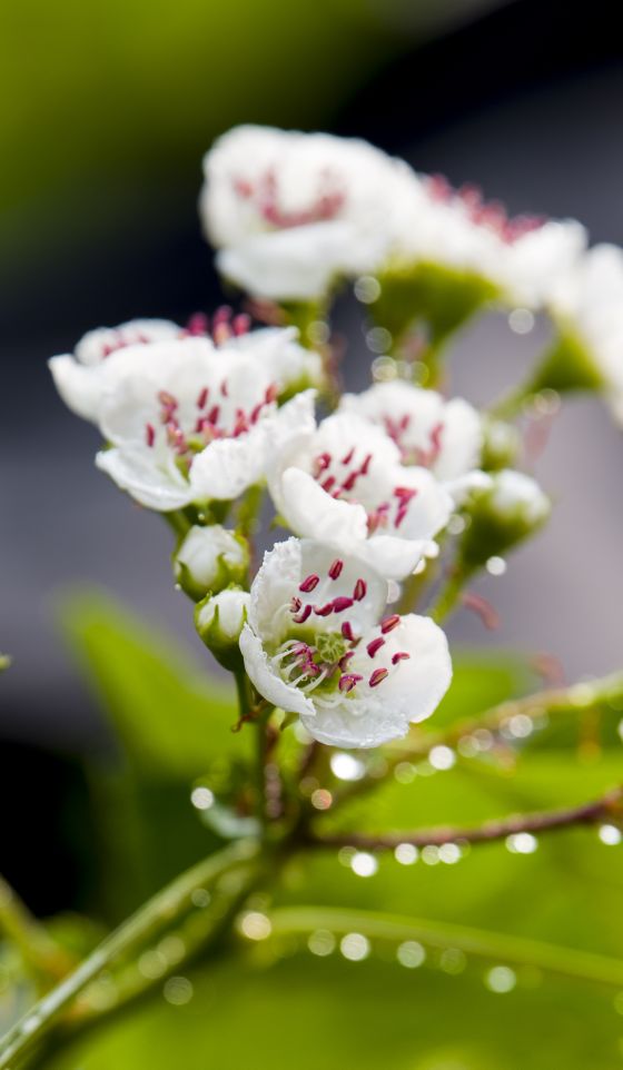
[[590, 249], [576, 269], [558, 280], [551, 311], [562, 334], [584, 349], [623, 422], [623, 250], [605, 244]]

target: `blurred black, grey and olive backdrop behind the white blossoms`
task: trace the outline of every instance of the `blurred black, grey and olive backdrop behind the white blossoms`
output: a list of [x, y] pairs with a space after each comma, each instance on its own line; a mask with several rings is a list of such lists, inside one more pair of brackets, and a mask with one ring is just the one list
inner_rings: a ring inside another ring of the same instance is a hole
[[[90, 327], [184, 321], [221, 299], [201, 240], [200, 159], [237, 122], [368, 138], [422, 170], [475, 180], [513, 211], [575, 216], [623, 241], [623, 69], [616, 10], [537, 0], [78, 0], [6, 7], [0, 34], [0, 806], [22, 831], [76, 813], [76, 757], [106, 745], [55, 626], [68, 584], [97, 583], [196, 645], [168, 572], [169, 532], [96, 472], [98, 437], [55, 395], [46, 358]], [[355, 310], [350, 385], [365, 382]], [[466, 331], [456, 390], [504, 388], [538, 347], [504, 317]], [[367, 355], [369, 357], [369, 354]], [[570, 678], [623, 664], [623, 439], [578, 399], [538, 472], [557, 499], [547, 532], [481, 590], [495, 635], [463, 612], [452, 637], [553, 654]], [[55, 910], [0, 830], [0, 869]], [[48, 841], [50, 860], [63, 844]], [[61, 859], [62, 861], [62, 859]], [[44, 865], [48, 870], [49, 866]]]

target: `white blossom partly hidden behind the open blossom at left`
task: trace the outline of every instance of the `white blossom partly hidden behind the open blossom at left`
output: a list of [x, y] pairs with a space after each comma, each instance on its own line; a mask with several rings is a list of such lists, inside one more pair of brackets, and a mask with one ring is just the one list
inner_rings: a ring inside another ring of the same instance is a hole
[[279, 396], [322, 384], [319, 354], [296, 341], [294, 327], [249, 330], [247, 316], [231, 317], [224, 308], [214, 316], [211, 337], [206, 317], [192, 317], [188, 327], [169, 320], [136, 319], [120, 327], [91, 330], [78, 343], [75, 354], [52, 357], [49, 367], [65, 404], [78, 416], [99, 422], [103, 398], [129, 375], [148, 370], [154, 346], [185, 338], [206, 337], [210, 347], [225, 354], [248, 354], [268, 370]]

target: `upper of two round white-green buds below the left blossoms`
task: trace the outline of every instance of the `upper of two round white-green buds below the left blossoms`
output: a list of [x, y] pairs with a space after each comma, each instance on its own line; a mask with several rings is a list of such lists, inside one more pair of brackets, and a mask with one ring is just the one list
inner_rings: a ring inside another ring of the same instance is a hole
[[191, 527], [174, 554], [175, 577], [195, 602], [241, 583], [248, 565], [246, 541], [220, 524]]

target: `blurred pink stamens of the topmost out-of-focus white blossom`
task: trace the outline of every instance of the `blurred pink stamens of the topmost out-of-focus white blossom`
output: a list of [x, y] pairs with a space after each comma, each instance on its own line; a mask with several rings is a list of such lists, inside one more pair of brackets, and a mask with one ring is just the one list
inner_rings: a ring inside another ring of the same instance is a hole
[[328, 168], [318, 175], [316, 197], [306, 208], [297, 211], [288, 211], [280, 206], [279, 182], [273, 168], [260, 175], [256, 182], [244, 178], [234, 179], [234, 189], [238, 197], [254, 205], [265, 222], [278, 230], [335, 219], [346, 200], [344, 190], [339, 188], [339, 182]]

